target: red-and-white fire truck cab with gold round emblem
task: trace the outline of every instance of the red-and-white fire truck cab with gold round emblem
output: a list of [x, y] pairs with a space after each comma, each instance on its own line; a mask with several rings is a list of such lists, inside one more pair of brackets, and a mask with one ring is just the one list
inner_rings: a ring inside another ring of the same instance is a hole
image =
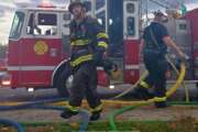
[[38, 7], [15, 11], [8, 53], [12, 87], [52, 86], [54, 70], [69, 54], [69, 21], [65, 9]]

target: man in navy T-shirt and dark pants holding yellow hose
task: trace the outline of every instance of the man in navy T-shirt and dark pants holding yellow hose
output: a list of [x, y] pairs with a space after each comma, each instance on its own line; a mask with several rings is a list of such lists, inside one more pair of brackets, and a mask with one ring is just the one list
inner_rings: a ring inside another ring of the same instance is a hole
[[[167, 16], [161, 12], [154, 12], [154, 21], [145, 28], [141, 40], [141, 52], [143, 61], [148, 72], [148, 76], [141, 80], [132, 92], [133, 96], [141, 99], [155, 98], [156, 108], [166, 107], [166, 70], [168, 63], [165, 58], [167, 47], [172, 47], [180, 59], [185, 59], [185, 54], [179, 50], [175, 42], [168, 35], [167, 29], [163, 22]], [[148, 88], [154, 87], [154, 94], [150, 94]]]

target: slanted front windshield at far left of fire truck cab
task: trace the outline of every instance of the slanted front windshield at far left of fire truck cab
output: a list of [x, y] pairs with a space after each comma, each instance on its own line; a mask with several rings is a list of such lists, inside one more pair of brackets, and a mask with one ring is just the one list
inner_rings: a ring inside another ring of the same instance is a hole
[[24, 21], [24, 13], [15, 12], [9, 36], [10, 38], [19, 38], [22, 31], [23, 21]]

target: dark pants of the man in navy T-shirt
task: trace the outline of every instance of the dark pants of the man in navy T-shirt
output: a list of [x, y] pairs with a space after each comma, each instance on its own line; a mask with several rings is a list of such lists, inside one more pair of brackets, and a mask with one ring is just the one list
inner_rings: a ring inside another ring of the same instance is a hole
[[[166, 95], [166, 70], [167, 61], [165, 55], [156, 54], [153, 52], [144, 52], [144, 64], [148, 72], [145, 82], [154, 86], [154, 96], [162, 98]], [[165, 100], [164, 100], [165, 101]]]

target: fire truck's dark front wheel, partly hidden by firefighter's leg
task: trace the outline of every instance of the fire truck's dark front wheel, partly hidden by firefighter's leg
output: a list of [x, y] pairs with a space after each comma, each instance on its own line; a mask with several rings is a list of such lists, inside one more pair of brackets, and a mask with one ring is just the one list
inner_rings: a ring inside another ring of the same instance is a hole
[[65, 69], [58, 80], [57, 80], [57, 91], [61, 97], [68, 97], [68, 80], [70, 78], [70, 72], [68, 69]]

